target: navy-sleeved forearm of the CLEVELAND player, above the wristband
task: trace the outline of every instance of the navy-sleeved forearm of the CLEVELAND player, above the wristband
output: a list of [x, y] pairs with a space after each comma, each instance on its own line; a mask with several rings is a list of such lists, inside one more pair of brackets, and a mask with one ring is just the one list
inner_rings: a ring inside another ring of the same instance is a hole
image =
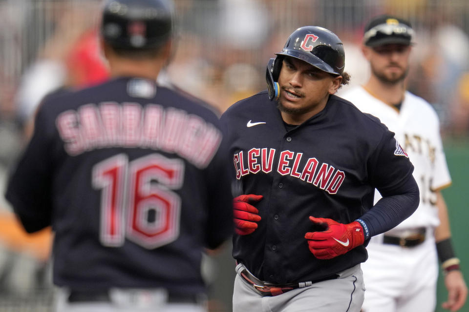
[[[376, 205], [360, 218], [371, 237], [384, 233], [414, 213], [419, 205], [419, 188], [413, 178], [407, 179], [396, 194], [384, 195]], [[366, 237], [366, 238], [367, 238]]]

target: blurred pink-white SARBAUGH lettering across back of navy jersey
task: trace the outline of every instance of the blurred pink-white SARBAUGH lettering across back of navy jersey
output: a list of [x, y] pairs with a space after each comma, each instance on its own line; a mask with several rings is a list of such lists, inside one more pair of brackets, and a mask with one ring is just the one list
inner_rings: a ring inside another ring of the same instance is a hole
[[60, 114], [56, 126], [71, 156], [97, 148], [141, 147], [175, 153], [198, 168], [208, 166], [222, 138], [202, 118], [157, 104], [86, 104]]

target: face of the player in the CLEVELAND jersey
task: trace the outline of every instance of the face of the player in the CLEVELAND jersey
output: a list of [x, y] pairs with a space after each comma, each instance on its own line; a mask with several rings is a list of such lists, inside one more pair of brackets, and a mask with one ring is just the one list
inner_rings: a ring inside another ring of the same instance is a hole
[[300, 124], [319, 113], [341, 81], [341, 76], [335, 77], [302, 60], [285, 57], [278, 77], [277, 100], [283, 120]]

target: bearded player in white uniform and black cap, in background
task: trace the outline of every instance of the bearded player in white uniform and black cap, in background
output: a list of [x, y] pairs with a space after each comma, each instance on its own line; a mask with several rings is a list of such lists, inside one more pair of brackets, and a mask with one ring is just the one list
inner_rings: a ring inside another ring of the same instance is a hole
[[[440, 192], [451, 184], [451, 178], [438, 116], [424, 99], [405, 91], [413, 35], [410, 23], [400, 18], [386, 15], [371, 20], [365, 26], [362, 46], [370, 78], [343, 94], [395, 132], [414, 165], [413, 176], [420, 189], [417, 211], [370, 240], [369, 258], [362, 267], [364, 312], [434, 311], [438, 257], [448, 288], [443, 308], [459, 310], [467, 295]], [[377, 192], [375, 200], [380, 197]]]

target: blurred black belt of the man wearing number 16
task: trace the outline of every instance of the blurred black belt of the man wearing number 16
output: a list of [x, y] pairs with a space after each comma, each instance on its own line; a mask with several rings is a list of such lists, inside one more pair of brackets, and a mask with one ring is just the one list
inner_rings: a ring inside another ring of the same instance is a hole
[[[111, 302], [111, 298], [108, 291], [96, 291], [96, 292], [79, 292], [71, 291], [68, 295], [69, 303], [77, 302]], [[168, 303], [200, 303], [201, 295], [192, 293], [168, 293]]]

